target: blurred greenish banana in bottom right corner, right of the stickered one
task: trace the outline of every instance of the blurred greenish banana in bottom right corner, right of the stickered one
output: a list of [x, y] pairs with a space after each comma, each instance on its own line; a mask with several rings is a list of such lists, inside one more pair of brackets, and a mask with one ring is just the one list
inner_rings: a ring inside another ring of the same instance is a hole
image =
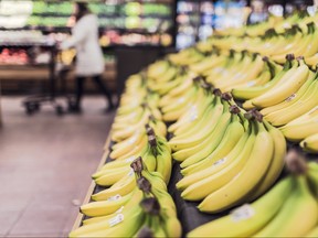
[[317, 201], [309, 191], [306, 176], [298, 175], [296, 190], [292, 192], [278, 215], [255, 234], [255, 237], [304, 237], [316, 226], [317, 219]]

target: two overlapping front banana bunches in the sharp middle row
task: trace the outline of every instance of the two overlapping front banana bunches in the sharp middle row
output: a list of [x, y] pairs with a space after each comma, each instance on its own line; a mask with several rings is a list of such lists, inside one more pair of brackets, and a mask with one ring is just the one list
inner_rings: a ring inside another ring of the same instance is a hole
[[243, 115], [229, 94], [214, 89], [205, 100], [198, 120], [171, 125], [179, 127], [169, 144], [172, 158], [182, 162], [183, 178], [177, 183], [181, 196], [202, 201], [198, 208], [214, 214], [254, 199], [273, 185], [284, 166], [286, 141], [258, 111]]

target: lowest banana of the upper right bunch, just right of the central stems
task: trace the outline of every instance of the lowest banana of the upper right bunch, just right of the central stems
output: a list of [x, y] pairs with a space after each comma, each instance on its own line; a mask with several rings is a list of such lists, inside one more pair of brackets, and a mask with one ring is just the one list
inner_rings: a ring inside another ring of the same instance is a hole
[[306, 82], [308, 74], [308, 66], [304, 64], [304, 61], [300, 61], [299, 67], [297, 67], [290, 78], [287, 78], [287, 80], [283, 82], [280, 85], [277, 85], [259, 97], [252, 99], [252, 104], [258, 108], [264, 108], [284, 101], [287, 97], [301, 87], [301, 85]]

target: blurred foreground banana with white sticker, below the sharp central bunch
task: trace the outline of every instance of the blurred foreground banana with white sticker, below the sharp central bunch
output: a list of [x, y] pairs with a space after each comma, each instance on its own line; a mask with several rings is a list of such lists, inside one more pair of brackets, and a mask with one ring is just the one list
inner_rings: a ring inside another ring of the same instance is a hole
[[275, 217], [288, 198], [293, 181], [287, 177], [276, 184], [259, 199], [252, 204], [245, 204], [230, 215], [206, 223], [187, 237], [250, 237], [261, 230]]

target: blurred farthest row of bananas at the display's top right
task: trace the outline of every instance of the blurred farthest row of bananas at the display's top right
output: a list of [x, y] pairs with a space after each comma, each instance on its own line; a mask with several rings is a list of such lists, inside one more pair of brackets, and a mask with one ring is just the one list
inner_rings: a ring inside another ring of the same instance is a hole
[[[235, 51], [248, 51], [259, 53], [263, 56], [268, 56], [271, 60], [283, 64], [285, 55], [293, 53], [296, 57], [304, 56], [308, 58], [308, 64], [314, 65], [317, 60], [318, 52], [318, 14], [316, 22], [303, 21], [299, 24], [292, 25], [283, 33], [278, 34], [274, 29], [269, 29], [262, 36], [224, 36], [211, 37], [210, 43], [221, 50], [233, 48]], [[306, 23], [306, 24], [305, 24]]]

